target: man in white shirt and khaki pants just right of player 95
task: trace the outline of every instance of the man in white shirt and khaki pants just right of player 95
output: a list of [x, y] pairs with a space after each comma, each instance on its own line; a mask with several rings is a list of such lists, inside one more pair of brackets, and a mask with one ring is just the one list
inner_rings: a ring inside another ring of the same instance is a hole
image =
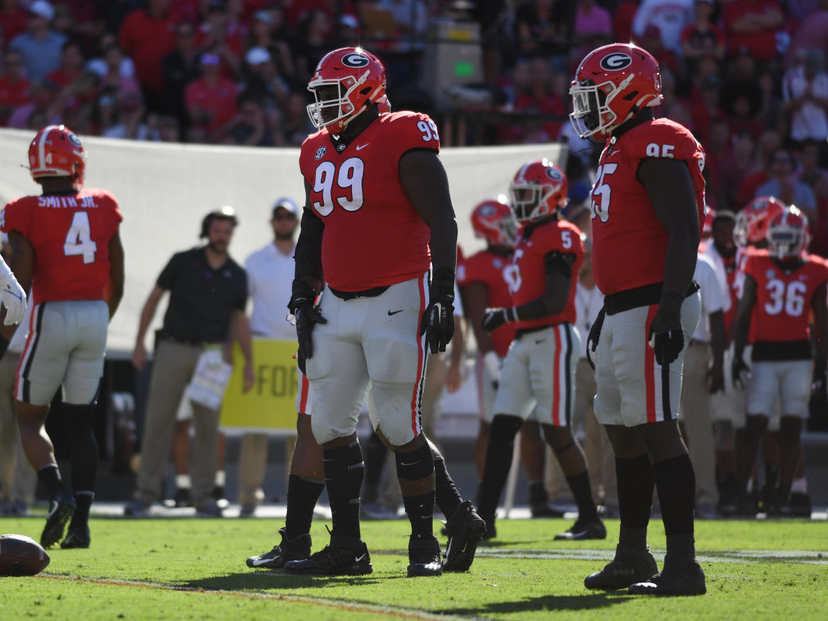
[[696, 471], [696, 517], [714, 517], [718, 493], [710, 394], [724, 391], [724, 295], [714, 263], [702, 253], [693, 278], [699, 283], [703, 320], [687, 345], [679, 420]]

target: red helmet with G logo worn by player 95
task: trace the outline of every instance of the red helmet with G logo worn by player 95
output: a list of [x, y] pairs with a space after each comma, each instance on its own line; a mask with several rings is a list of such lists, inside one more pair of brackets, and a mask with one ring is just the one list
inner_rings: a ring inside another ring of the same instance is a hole
[[643, 47], [613, 43], [591, 51], [580, 61], [570, 84], [575, 132], [585, 138], [609, 134], [642, 108], [662, 103], [658, 61]]

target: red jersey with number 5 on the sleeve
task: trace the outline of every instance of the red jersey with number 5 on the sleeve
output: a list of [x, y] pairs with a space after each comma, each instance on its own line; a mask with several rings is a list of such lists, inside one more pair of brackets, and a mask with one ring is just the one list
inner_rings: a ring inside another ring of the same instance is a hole
[[566, 307], [558, 315], [517, 321], [517, 328], [537, 328], [565, 321], [575, 323], [575, 290], [580, 264], [584, 262], [584, 243], [580, 241], [580, 229], [566, 220], [551, 220], [537, 227], [527, 225], [520, 229], [513, 267], [507, 272], [512, 304], [521, 306], [546, 293], [546, 255], [554, 252], [575, 255]]

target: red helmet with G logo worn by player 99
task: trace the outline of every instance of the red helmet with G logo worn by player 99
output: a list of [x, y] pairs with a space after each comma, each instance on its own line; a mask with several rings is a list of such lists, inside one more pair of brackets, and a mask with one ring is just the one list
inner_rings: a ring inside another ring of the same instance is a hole
[[338, 136], [385, 94], [385, 67], [361, 47], [341, 47], [319, 61], [308, 90], [316, 99], [307, 107], [310, 122]]

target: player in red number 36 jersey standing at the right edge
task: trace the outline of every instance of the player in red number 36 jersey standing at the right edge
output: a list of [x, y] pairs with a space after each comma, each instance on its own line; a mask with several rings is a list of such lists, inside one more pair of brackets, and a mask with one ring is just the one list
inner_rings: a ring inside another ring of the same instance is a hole
[[[796, 207], [770, 220], [766, 238], [768, 249], [749, 254], [745, 262], [743, 293], [734, 324], [733, 379], [737, 383], [744, 381], [747, 372], [741, 354], [755, 322], [744, 448], [737, 455], [736, 484], [745, 498], [759, 441], [778, 399], [782, 407], [779, 485], [768, 513], [784, 515], [799, 460], [802, 419], [807, 416], [811, 394], [811, 369], [815, 383], [826, 381], [828, 265], [804, 252], [809, 241], [807, 221]], [[816, 344], [813, 362], [808, 330], [811, 310]]]

